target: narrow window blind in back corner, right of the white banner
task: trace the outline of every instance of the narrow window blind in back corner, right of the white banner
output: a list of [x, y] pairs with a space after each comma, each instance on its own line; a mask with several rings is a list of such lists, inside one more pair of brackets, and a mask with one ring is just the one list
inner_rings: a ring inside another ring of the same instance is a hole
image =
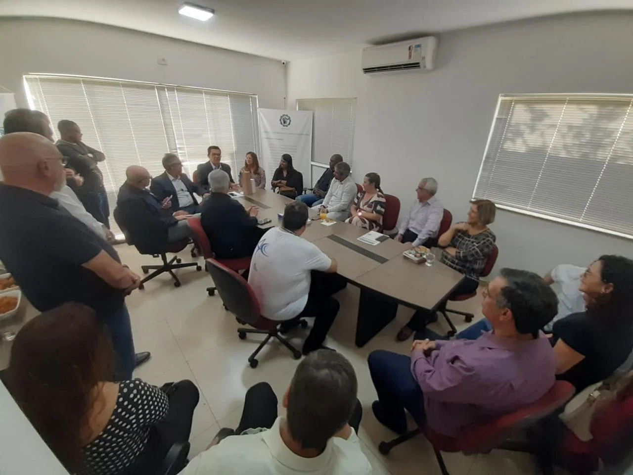
[[351, 165], [354, 150], [356, 98], [298, 99], [297, 110], [314, 112], [313, 161], [328, 165], [330, 156], [340, 153], [343, 160]]

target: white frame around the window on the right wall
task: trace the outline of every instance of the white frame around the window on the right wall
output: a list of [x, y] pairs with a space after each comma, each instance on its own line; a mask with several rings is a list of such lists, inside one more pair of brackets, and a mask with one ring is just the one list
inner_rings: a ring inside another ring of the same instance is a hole
[[[497, 105], [494, 108], [494, 113], [492, 115], [492, 121], [491, 121], [491, 127], [490, 130], [488, 132], [488, 138], [486, 141], [486, 148], [484, 148], [484, 155], [482, 156], [482, 160], [481, 163], [479, 165], [479, 171], [477, 172], [477, 178], [475, 179], [475, 184], [473, 186], [473, 192], [471, 195], [471, 200], [481, 200], [481, 199], [486, 199], [485, 196], [479, 196], [476, 194], [477, 191], [477, 184], [479, 184], [479, 180], [481, 178], [482, 175], [482, 171], [484, 169], [484, 162], [486, 161], [486, 156], [488, 155], [488, 151], [489, 148], [491, 146], [491, 141], [492, 141], [492, 136], [495, 132], [495, 125], [496, 125], [496, 120], [499, 117], [499, 109], [501, 108], [501, 104], [503, 102], [504, 99], [535, 99], [535, 98], [559, 98], [559, 99], [568, 99], [568, 98], [613, 98], [614, 96], [617, 96], [618, 98], [629, 98], [631, 101], [633, 101], [633, 94], [617, 94], [617, 93], [581, 93], [581, 92], [575, 92], [575, 93], [570, 93], [570, 94], [565, 94], [565, 93], [559, 93], [559, 92], [550, 92], [550, 93], [544, 93], [544, 94], [538, 94], [538, 93], [532, 93], [532, 94], [499, 94], [499, 98], [497, 99]], [[608, 161], [606, 162], [608, 163]], [[605, 163], [605, 166], [606, 166]], [[633, 165], [632, 165], [633, 167]], [[581, 229], [588, 229], [589, 231], [595, 231], [595, 232], [599, 232], [601, 234], [608, 234], [610, 236], [617, 236], [618, 238], [625, 238], [625, 239], [629, 239], [633, 241], [633, 234], [626, 234], [625, 232], [620, 232], [620, 231], [615, 231], [613, 229], [607, 229], [604, 227], [599, 227], [596, 225], [592, 225], [592, 224], [586, 224], [586, 223], [582, 223], [582, 222], [578, 222], [578, 221], [573, 221], [573, 220], [568, 220], [565, 218], [561, 218], [558, 216], [554, 216], [554, 215], [549, 215], [547, 213], [542, 213], [542, 212], [533, 212], [530, 210], [525, 210], [522, 208], [516, 208], [515, 206], [510, 206], [510, 205], [503, 205], [503, 204], [498, 204], [495, 203], [497, 208], [500, 208], [502, 210], [506, 210], [506, 211], [510, 211], [513, 213], [518, 213], [518, 214], [522, 214], [522, 215], [526, 215], [526, 216], [530, 216], [530, 217], [534, 217], [534, 218], [539, 218], [542, 220], [546, 220], [546, 221], [552, 221], [552, 222], [556, 222], [556, 223], [560, 223], [560, 224], [566, 224], [566, 225], [570, 225], [573, 227], [579, 227]]]

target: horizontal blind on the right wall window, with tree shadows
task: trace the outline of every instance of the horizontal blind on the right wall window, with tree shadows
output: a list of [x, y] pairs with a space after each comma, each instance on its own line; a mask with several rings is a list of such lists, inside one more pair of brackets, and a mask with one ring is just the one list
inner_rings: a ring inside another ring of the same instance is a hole
[[633, 97], [499, 98], [473, 198], [633, 238]]

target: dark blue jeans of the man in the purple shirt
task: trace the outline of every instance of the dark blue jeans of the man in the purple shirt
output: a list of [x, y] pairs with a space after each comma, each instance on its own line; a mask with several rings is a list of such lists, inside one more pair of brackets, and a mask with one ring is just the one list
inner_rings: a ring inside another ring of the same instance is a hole
[[418, 424], [423, 424], [424, 397], [420, 385], [411, 374], [411, 357], [377, 350], [367, 358], [373, 387], [390, 428], [406, 431], [408, 410]]

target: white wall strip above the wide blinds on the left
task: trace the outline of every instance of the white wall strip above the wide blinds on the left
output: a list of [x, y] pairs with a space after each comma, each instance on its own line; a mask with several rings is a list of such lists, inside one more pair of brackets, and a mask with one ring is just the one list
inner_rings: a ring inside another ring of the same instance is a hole
[[284, 107], [285, 66], [251, 54], [49, 18], [0, 18], [0, 45], [0, 85], [18, 106], [28, 106], [23, 74], [61, 73], [251, 92], [260, 107]]

